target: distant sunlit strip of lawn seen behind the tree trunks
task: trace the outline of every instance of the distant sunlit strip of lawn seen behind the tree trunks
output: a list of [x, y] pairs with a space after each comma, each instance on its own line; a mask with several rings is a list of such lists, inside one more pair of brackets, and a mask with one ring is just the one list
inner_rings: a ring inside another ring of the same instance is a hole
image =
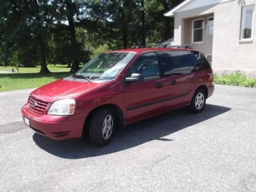
[[[66, 71], [70, 71], [70, 68], [68, 67], [68, 65], [48, 65], [47, 66], [48, 69], [50, 71], [56, 71], [56, 70], [66, 70]], [[4, 66], [0, 66], [0, 71], [11, 71], [12, 69], [14, 69], [14, 72], [17, 72], [17, 70], [14, 67], [4, 67]], [[19, 73], [27, 73], [27, 72], [39, 72], [40, 71], [40, 66], [36, 66], [36, 67], [32, 67], [32, 68], [18, 68], [19, 69]]]

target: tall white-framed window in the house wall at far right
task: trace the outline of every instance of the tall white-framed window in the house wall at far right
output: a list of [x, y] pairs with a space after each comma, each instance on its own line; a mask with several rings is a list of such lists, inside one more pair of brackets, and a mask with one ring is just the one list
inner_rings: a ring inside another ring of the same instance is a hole
[[253, 12], [254, 5], [242, 8], [241, 40], [252, 38]]

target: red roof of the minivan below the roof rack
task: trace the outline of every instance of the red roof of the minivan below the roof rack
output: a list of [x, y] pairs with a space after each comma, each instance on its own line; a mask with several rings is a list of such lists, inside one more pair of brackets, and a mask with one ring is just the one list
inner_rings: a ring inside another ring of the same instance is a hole
[[121, 50], [109, 51], [109, 53], [133, 52], [138, 54], [141, 52], [148, 52], [148, 51], [197, 51], [197, 50], [189, 49], [189, 48], [133, 48], [133, 49], [121, 49]]

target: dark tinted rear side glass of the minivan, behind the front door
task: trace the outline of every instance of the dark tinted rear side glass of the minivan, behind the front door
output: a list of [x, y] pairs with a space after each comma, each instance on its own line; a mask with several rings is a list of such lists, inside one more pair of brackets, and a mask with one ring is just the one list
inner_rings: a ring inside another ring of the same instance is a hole
[[185, 74], [210, 69], [207, 59], [197, 51], [158, 52], [164, 75]]

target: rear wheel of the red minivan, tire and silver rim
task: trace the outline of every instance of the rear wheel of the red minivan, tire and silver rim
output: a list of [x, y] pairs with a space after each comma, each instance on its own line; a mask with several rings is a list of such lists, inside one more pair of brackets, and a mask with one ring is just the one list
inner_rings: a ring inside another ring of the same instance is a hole
[[193, 113], [202, 112], [204, 110], [205, 101], [206, 101], [205, 91], [202, 89], [197, 90], [189, 105], [189, 111]]

